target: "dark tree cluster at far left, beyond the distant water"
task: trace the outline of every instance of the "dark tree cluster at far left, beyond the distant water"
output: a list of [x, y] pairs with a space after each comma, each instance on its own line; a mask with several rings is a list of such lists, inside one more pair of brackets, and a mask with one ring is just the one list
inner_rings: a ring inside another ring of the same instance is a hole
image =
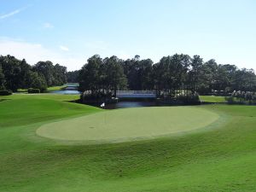
[[38, 61], [31, 66], [26, 60], [0, 55], [0, 90], [35, 88], [44, 92], [49, 86], [67, 83], [67, 67], [51, 61]]

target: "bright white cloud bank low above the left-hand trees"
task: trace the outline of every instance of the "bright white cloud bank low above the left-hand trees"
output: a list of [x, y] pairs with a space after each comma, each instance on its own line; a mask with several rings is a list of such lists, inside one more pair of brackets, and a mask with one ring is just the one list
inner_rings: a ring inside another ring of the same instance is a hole
[[77, 70], [86, 62], [81, 55], [63, 54], [58, 49], [48, 49], [42, 44], [32, 44], [21, 39], [1, 38], [0, 55], [14, 55], [18, 59], [25, 58], [33, 65], [38, 61], [52, 61], [67, 67], [67, 70]]

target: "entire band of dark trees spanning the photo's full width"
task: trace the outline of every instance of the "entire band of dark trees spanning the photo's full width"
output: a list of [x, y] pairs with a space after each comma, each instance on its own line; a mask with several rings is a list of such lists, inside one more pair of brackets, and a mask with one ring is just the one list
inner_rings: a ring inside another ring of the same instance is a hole
[[37, 88], [44, 92], [67, 82], [79, 83], [79, 90], [90, 96], [115, 96], [116, 90], [155, 90], [165, 98], [195, 93], [229, 96], [235, 90], [256, 90], [253, 69], [203, 61], [199, 55], [169, 55], [157, 63], [141, 60], [139, 55], [127, 60], [93, 55], [73, 72], [51, 61], [31, 66], [11, 55], [0, 56], [0, 90]]

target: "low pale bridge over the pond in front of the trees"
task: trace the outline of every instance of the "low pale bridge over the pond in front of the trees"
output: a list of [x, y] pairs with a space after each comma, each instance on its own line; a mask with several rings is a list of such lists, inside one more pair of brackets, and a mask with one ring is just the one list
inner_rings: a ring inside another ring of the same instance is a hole
[[154, 90], [117, 90], [118, 98], [156, 98]]

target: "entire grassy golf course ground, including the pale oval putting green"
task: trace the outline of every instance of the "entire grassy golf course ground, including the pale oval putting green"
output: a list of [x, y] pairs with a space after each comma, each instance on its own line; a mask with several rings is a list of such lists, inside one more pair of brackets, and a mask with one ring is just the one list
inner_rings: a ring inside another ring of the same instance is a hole
[[[0, 191], [254, 191], [256, 108], [0, 97]], [[207, 97], [205, 97], [207, 99]]]

